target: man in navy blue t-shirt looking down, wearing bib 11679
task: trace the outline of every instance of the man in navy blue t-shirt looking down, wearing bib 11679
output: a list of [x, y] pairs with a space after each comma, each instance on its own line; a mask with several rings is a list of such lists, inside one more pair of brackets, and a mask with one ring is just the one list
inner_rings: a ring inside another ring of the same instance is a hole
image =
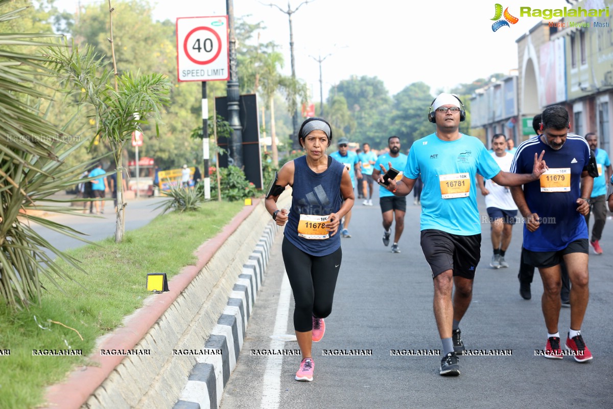
[[593, 178], [588, 175], [590, 148], [581, 136], [568, 134], [568, 112], [560, 106], [543, 111], [543, 135], [517, 148], [511, 172], [531, 169], [533, 155], [545, 151], [549, 168], [539, 180], [512, 187], [511, 194], [525, 218], [524, 258], [538, 267], [543, 279], [543, 315], [547, 326], [544, 356], [562, 359], [558, 319], [560, 315], [560, 263], [566, 262], [571, 281], [571, 323], [566, 349], [577, 362], [592, 359], [581, 336], [587, 308], [588, 243], [583, 217], [590, 211]]

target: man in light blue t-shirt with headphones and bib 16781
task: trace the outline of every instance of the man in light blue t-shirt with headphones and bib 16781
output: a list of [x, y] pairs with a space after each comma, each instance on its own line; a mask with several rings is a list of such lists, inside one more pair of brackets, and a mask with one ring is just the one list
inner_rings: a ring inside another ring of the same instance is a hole
[[[546, 170], [541, 155], [535, 156], [530, 175], [501, 171], [481, 140], [460, 133], [464, 119], [459, 97], [446, 93], [436, 97], [428, 113], [436, 132], [413, 142], [402, 180], [392, 180], [387, 187], [394, 196], [406, 196], [420, 174], [424, 181], [421, 247], [432, 269], [434, 315], [443, 344], [440, 374], [452, 376], [460, 375], [457, 354], [465, 348], [459, 324], [470, 305], [481, 258], [476, 175], [501, 186], [519, 186], [537, 180]], [[386, 169], [382, 165], [381, 174]]]

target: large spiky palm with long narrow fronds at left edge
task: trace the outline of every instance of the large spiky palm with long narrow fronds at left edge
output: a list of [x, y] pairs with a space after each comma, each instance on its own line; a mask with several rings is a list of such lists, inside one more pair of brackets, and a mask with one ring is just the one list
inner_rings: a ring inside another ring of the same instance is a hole
[[[0, 0], [0, 9], [9, 0]], [[0, 13], [2, 23], [20, 17], [21, 9]], [[53, 193], [73, 186], [78, 174], [88, 164], [66, 169], [64, 159], [82, 143], [64, 143], [64, 133], [45, 120], [40, 112], [42, 99], [50, 99], [45, 90], [45, 56], [37, 53], [49, 34], [16, 34], [0, 29], [0, 299], [12, 308], [21, 308], [40, 300], [39, 278], [51, 282], [66, 278], [64, 270], [45, 251], [50, 250], [78, 268], [77, 261], [43, 239], [29, 221], [71, 237], [80, 238], [70, 227], [50, 220], [23, 215], [22, 210], [37, 208], [51, 212], [70, 212], [58, 205], [39, 206], [45, 199], [53, 203]], [[28, 47], [28, 52], [20, 52]], [[34, 102], [32, 102], [34, 101]], [[68, 277], [70, 278], [70, 277]]]

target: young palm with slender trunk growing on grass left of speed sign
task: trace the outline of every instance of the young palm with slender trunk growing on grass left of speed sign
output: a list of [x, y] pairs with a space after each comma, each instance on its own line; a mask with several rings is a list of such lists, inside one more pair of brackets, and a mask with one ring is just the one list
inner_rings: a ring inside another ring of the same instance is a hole
[[[107, 139], [113, 151], [117, 174], [117, 213], [115, 242], [121, 242], [124, 234], [123, 169], [122, 153], [132, 132], [140, 131], [142, 124], [155, 123], [159, 136], [162, 105], [169, 105], [170, 85], [162, 74], [132, 75], [126, 72], [116, 75], [109, 71], [102, 56], [85, 45], [51, 48], [53, 70], [67, 93], [78, 98], [80, 104], [93, 109], [97, 134]], [[113, 78], [116, 81], [112, 86]]]

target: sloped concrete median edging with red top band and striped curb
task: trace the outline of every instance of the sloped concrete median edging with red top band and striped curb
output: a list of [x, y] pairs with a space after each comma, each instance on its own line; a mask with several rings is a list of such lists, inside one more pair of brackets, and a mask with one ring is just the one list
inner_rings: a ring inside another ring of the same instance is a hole
[[[196, 266], [174, 277], [169, 292], [148, 297], [123, 327], [99, 338], [89, 357], [97, 366], [77, 370], [66, 382], [48, 388], [47, 408], [173, 407], [182, 380], [200, 363], [193, 355], [175, 356], [177, 350], [221, 350], [221, 356], [210, 357], [221, 359], [213, 368], [223, 373], [225, 384], [242, 346], [275, 232], [263, 201], [256, 199], [243, 208], [198, 248]], [[245, 277], [237, 281], [237, 272]], [[239, 334], [236, 346], [227, 341]], [[101, 355], [101, 350], [149, 352], [124, 356]], [[227, 369], [222, 371], [222, 365]], [[202, 369], [196, 373], [202, 379]], [[221, 400], [221, 391], [216, 400]]]

